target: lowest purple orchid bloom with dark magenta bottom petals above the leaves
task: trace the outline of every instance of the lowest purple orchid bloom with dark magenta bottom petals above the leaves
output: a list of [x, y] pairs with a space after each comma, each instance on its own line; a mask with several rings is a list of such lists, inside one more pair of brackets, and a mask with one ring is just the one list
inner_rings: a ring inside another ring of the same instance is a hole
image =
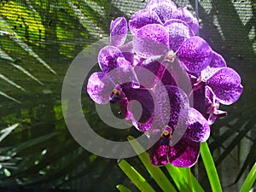
[[[163, 115], [169, 113], [168, 125], [156, 127], [149, 137], [148, 149], [150, 161], [154, 166], [193, 166], [198, 159], [200, 143], [207, 141], [210, 127], [200, 112], [189, 108], [189, 100], [176, 86], [165, 86], [171, 105], [171, 113], [161, 110]], [[162, 107], [165, 107], [163, 103]], [[158, 128], [157, 128], [158, 127]], [[155, 141], [157, 141], [155, 143]]]

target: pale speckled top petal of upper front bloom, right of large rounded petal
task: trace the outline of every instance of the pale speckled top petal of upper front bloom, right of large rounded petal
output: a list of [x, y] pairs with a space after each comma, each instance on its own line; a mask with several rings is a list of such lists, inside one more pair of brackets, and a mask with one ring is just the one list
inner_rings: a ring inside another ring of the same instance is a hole
[[169, 33], [169, 48], [173, 51], [177, 51], [186, 38], [193, 36], [189, 26], [183, 20], [167, 20], [164, 26]]

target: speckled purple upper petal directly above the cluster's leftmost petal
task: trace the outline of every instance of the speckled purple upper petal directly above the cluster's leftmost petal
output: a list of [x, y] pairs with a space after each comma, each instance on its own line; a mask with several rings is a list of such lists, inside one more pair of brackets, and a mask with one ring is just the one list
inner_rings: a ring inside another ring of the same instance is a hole
[[117, 58], [124, 57], [122, 52], [114, 46], [106, 46], [102, 48], [98, 55], [98, 62], [102, 72], [108, 73], [118, 67]]

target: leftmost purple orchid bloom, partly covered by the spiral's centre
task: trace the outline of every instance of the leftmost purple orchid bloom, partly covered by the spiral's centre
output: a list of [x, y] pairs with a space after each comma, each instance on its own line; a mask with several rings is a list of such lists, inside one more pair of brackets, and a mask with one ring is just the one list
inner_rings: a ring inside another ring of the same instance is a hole
[[[145, 124], [152, 118], [154, 101], [150, 90], [139, 87], [139, 81], [131, 62], [125, 59], [123, 52], [113, 46], [106, 46], [99, 52], [98, 63], [102, 72], [92, 73], [88, 80], [87, 92], [90, 98], [99, 104], [118, 103], [120, 113], [134, 124]], [[141, 104], [138, 111], [137, 105]], [[138, 114], [137, 114], [138, 113]], [[148, 131], [150, 127], [139, 129]]]

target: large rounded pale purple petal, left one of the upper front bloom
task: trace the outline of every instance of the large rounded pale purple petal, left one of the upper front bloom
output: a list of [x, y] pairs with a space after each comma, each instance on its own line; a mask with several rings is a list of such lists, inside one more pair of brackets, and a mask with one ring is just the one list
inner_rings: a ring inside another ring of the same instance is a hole
[[148, 58], [155, 55], [166, 55], [169, 35], [164, 26], [149, 24], [143, 26], [133, 38], [133, 49], [137, 55]]

